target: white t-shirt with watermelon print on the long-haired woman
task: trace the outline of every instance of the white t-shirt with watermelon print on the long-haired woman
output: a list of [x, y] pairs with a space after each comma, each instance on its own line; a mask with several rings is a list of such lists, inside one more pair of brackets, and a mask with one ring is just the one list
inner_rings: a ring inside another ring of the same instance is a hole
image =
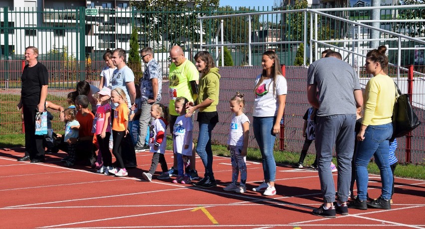
[[[260, 80], [261, 74], [255, 79], [255, 85]], [[261, 82], [267, 89], [265, 95], [255, 95], [254, 108], [252, 116], [254, 117], [273, 117], [277, 114], [277, 108], [279, 106], [278, 96], [286, 95], [288, 92], [286, 79], [282, 75], [276, 76], [276, 93], [273, 93], [273, 78], [265, 79]]]

